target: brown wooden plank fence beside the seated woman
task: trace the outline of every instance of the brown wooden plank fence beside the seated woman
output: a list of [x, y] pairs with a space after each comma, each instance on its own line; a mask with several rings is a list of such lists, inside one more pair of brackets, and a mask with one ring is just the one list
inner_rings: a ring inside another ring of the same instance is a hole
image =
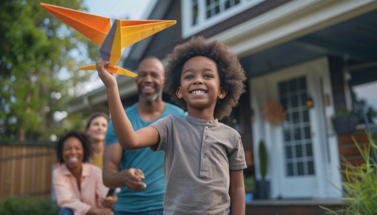
[[49, 196], [55, 154], [51, 142], [0, 144], [0, 198]]

